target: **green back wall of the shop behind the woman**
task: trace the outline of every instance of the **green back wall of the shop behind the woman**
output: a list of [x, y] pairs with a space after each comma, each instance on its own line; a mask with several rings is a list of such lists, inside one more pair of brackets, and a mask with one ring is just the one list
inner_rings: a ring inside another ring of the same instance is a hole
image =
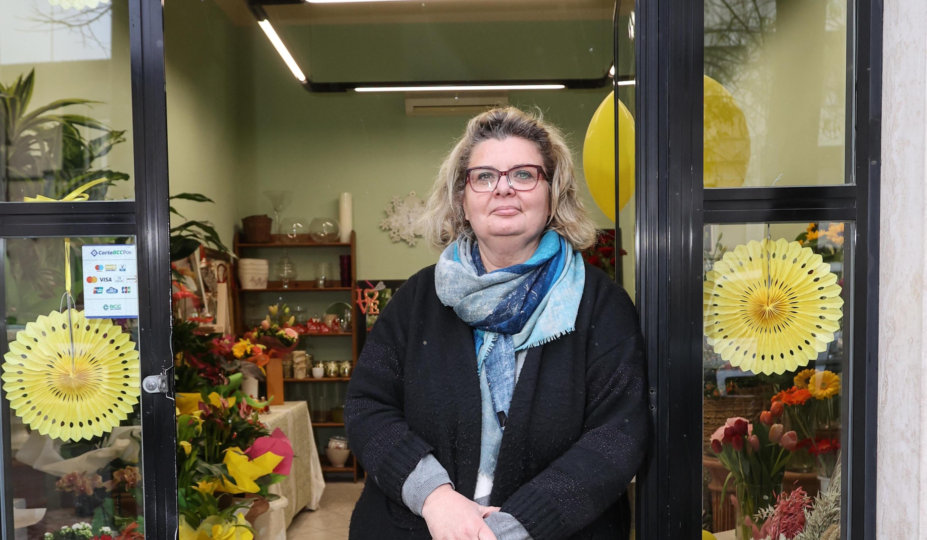
[[[255, 174], [238, 177], [238, 215], [272, 215], [260, 193], [288, 189], [293, 198], [285, 216], [337, 219], [337, 196], [349, 192], [360, 277], [403, 279], [433, 264], [437, 253], [425, 245], [392, 243], [379, 222], [392, 196], [414, 191], [425, 197], [467, 118], [407, 117], [401, 94], [308, 93], [260, 38], [254, 49]], [[568, 135], [581, 169], [586, 127], [607, 92], [513, 92], [510, 103], [540, 107]], [[582, 189], [596, 221], [614, 226], [595, 207], [585, 183]]]

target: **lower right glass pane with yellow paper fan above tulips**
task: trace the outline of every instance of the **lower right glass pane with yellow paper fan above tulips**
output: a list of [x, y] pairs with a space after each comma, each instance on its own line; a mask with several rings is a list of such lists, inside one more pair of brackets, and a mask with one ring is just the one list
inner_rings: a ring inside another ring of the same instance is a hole
[[840, 537], [852, 229], [705, 226], [703, 528], [718, 539]]

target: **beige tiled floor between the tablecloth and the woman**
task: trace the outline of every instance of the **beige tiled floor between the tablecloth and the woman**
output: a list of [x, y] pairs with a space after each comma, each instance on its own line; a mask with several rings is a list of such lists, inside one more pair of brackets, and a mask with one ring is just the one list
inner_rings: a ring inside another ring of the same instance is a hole
[[346, 540], [354, 503], [363, 483], [328, 482], [319, 509], [303, 510], [286, 530], [286, 540]]

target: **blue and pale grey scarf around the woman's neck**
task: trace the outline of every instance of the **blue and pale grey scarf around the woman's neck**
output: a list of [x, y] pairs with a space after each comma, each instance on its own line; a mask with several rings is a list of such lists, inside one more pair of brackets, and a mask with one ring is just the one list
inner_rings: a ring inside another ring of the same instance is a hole
[[476, 373], [486, 370], [492, 406], [504, 427], [515, 384], [515, 351], [575, 329], [586, 270], [582, 257], [548, 231], [527, 261], [487, 272], [479, 246], [462, 235], [438, 259], [438, 297], [474, 329]]

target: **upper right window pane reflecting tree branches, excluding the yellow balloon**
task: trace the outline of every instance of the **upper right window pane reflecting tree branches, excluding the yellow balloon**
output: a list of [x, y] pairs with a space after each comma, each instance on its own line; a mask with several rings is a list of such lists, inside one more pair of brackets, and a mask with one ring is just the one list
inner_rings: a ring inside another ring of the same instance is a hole
[[743, 109], [744, 185], [843, 182], [845, 0], [705, 0], [705, 74]]

